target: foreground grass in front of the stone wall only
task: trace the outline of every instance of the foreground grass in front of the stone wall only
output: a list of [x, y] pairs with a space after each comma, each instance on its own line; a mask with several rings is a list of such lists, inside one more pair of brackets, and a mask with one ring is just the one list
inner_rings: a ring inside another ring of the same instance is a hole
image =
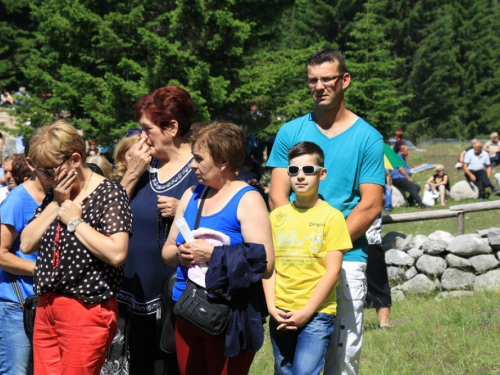
[[[500, 373], [500, 292], [436, 301], [412, 297], [395, 303], [391, 331], [380, 331], [365, 310], [361, 375], [474, 375]], [[267, 329], [267, 326], [266, 326]], [[250, 374], [273, 374], [266, 332]]]

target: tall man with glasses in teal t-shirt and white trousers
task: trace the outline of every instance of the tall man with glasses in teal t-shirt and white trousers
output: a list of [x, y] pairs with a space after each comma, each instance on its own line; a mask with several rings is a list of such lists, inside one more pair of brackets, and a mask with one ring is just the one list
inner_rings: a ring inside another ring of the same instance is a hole
[[267, 162], [274, 168], [269, 203], [275, 209], [294, 199], [286, 169], [288, 150], [301, 141], [320, 146], [329, 174], [319, 194], [344, 214], [353, 242], [342, 263], [325, 375], [357, 374], [359, 370], [366, 295], [365, 232], [382, 211], [385, 184], [382, 136], [345, 107], [344, 91], [350, 82], [339, 52], [323, 49], [312, 54], [307, 60], [307, 84], [315, 109], [281, 127]]

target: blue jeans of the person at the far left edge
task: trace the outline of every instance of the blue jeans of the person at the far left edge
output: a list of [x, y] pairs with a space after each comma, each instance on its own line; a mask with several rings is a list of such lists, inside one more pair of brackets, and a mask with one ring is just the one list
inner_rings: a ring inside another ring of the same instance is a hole
[[26, 375], [29, 365], [31, 345], [24, 332], [21, 305], [0, 301], [0, 374]]

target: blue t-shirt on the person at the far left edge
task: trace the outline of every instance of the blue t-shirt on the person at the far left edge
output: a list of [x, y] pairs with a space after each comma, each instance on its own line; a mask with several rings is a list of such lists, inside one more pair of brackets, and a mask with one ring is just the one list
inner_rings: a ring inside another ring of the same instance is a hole
[[[13, 189], [0, 205], [2, 224], [11, 225], [18, 234], [10, 248], [10, 252], [30, 262], [36, 262], [38, 252], [24, 254], [19, 246], [21, 242], [21, 233], [26, 225], [28, 225], [28, 222], [33, 217], [38, 206], [39, 204], [33, 199], [23, 185], [19, 185]], [[14, 277], [19, 284], [19, 289], [21, 289], [21, 294], [24, 299], [33, 295], [33, 277], [19, 275], [15, 275]], [[12, 288], [9, 274], [1, 269], [0, 298], [10, 302], [19, 302]]]

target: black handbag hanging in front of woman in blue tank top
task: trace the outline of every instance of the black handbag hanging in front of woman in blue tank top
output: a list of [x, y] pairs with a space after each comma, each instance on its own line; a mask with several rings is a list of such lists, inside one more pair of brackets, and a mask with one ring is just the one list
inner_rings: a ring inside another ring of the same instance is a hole
[[211, 298], [205, 288], [188, 280], [186, 289], [174, 306], [174, 313], [209, 335], [217, 336], [229, 323], [230, 307], [228, 300]]

